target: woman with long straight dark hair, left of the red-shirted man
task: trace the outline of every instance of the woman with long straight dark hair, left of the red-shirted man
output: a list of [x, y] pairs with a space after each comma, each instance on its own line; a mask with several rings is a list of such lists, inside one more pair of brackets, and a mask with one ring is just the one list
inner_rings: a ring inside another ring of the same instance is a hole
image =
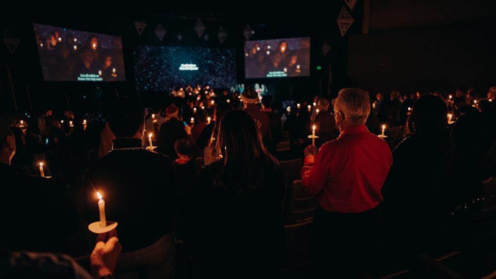
[[222, 118], [217, 148], [222, 157], [197, 174], [191, 204], [179, 223], [180, 237], [195, 251], [202, 276], [276, 278], [286, 247], [279, 162], [242, 110]]

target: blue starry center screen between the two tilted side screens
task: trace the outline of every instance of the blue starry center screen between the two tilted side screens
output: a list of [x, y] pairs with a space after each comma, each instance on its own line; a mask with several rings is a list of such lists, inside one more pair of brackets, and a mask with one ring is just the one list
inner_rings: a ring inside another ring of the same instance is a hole
[[188, 84], [229, 88], [237, 82], [235, 49], [139, 46], [133, 65], [140, 91], [169, 91]]

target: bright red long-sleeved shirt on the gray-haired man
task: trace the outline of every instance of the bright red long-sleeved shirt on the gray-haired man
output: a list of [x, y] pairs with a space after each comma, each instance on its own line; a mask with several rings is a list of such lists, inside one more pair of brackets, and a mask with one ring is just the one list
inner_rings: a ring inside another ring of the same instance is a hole
[[365, 125], [349, 127], [307, 156], [302, 185], [316, 195], [319, 205], [332, 212], [362, 212], [382, 203], [381, 188], [393, 163], [384, 139]]

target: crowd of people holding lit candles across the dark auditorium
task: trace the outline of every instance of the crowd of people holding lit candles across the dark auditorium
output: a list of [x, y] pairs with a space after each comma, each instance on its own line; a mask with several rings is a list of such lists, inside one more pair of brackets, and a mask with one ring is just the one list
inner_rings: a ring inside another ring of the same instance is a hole
[[[0, 260], [57, 258], [38, 271], [13, 261], [1, 273], [277, 278], [284, 140], [318, 200], [311, 278], [413, 268], [418, 255], [462, 249], [480, 233], [466, 212], [482, 208], [483, 182], [496, 175], [496, 86], [484, 96], [343, 88], [282, 110], [251, 86], [199, 92], [148, 109], [122, 92], [93, 130], [70, 111], [56, 119], [47, 108], [34, 124], [3, 111]], [[401, 136], [380, 137], [384, 126]], [[91, 233], [103, 200], [117, 228]], [[74, 260], [81, 255], [91, 255], [87, 266]]]

